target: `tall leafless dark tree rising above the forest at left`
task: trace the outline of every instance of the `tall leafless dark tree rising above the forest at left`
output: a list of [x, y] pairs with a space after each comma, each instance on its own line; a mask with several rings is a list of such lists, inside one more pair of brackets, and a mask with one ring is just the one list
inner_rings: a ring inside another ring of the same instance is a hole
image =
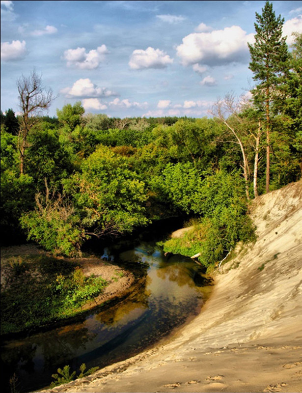
[[27, 148], [27, 137], [30, 129], [43, 111], [48, 110], [55, 99], [51, 88], [45, 88], [41, 76], [33, 70], [29, 77], [22, 75], [17, 80], [19, 106], [22, 111], [21, 126], [18, 134], [18, 148], [20, 152], [20, 173], [25, 173], [24, 159]]

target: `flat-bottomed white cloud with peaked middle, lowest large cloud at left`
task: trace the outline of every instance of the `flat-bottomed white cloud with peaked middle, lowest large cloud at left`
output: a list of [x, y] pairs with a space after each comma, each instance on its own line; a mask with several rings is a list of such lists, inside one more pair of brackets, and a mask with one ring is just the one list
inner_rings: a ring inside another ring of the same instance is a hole
[[72, 87], [65, 87], [61, 93], [66, 97], [110, 97], [116, 96], [117, 93], [108, 90], [106, 87], [98, 87], [93, 84], [89, 78], [79, 79]]

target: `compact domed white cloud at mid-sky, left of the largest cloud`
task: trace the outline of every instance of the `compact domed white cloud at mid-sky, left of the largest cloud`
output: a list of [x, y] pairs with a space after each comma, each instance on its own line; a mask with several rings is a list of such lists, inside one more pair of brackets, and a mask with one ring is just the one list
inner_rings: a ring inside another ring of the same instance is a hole
[[160, 49], [147, 48], [145, 51], [136, 49], [133, 51], [129, 61], [130, 68], [141, 70], [144, 68], [165, 68], [173, 63], [173, 59]]

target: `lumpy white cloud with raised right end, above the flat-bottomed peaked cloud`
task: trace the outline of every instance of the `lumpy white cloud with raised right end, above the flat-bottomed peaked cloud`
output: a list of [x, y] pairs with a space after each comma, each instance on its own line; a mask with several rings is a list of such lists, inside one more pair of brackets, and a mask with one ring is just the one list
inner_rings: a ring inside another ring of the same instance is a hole
[[82, 70], [92, 70], [98, 68], [105, 56], [109, 53], [106, 45], [101, 45], [97, 49], [86, 52], [85, 48], [67, 49], [63, 58], [67, 61], [67, 67], [76, 67]]

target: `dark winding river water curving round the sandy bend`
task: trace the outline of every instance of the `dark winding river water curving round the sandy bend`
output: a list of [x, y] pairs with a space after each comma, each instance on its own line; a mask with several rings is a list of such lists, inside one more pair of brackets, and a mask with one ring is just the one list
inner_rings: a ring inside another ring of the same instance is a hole
[[[106, 253], [113, 258], [113, 251]], [[154, 242], [115, 251], [117, 256], [146, 270], [145, 281], [130, 298], [80, 322], [3, 343], [1, 368], [8, 377], [16, 374], [21, 392], [47, 387], [57, 368], [67, 364], [79, 370], [82, 363], [102, 368], [125, 360], [198, 314], [209, 287], [198, 286], [200, 268], [190, 258], [168, 259]]]

